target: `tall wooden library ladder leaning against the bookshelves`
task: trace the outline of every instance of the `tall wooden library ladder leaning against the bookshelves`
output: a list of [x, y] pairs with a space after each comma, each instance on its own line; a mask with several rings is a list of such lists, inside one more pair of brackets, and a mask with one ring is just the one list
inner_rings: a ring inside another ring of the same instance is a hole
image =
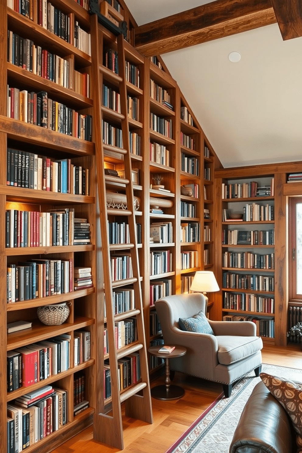
[[[142, 294], [140, 288], [139, 276], [139, 259], [137, 250], [136, 239], [136, 223], [134, 213], [134, 196], [132, 184], [132, 170], [131, 170], [131, 157], [129, 145], [129, 124], [127, 115], [127, 91], [125, 79], [125, 43], [124, 37], [120, 34], [117, 37], [117, 51], [119, 62], [119, 90], [120, 90], [120, 106], [121, 112], [121, 129], [123, 138], [123, 149], [116, 149], [111, 147], [110, 153], [116, 155], [123, 155], [122, 159], [125, 165], [125, 178], [115, 178], [105, 175], [104, 171], [104, 147], [102, 137], [102, 44], [103, 35], [101, 26], [97, 22], [97, 16], [91, 18], [91, 86], [94, 89], [94, 124], [95, 124], [95, 144], [96, 144], [96, 176], [98, 186], [98, 199], [100, 208], [100, 223], [101, 223], [101, 252], [103, 261], [104, 273], [104, 292], [106, 304], [106, 323], [108, 333], [109, 345], [109, 361], [110, 361], [110, 379], [111, 379], [111, 398], [112, 398], [112, 412], [110, 415], [100, 413], [104, 410], [104, 405], [99, 402], [94, 415], [94, 439], [109, 444], [115, 448], [123, 449], [123, 428], [121, 418], [120, 404], [125, 401], [125, 415], [131, 418], [140, 419], [147, 423], [153, 423], [150, 386], [149, 386], [149, 372], [147, 362], [147, 351], [144, 334], [144, 318], [142, 309]], [[116, 44], [115, 44], [116, 45]], [[108, 148], [108, 147], [107, 147]], [[117, 157], [117, 159], [120, 159]], [[127, 210], [109, 209], [106, 204], [106, 182], [125, 184]], [[129, 236], [130, 244], [120, 244], [110, 246], [109, 235], [107, 227], [107, 216], [128, 216], [129, 223]], [[130, 251], [132, 260], [133, 278], [126, 280], [112, 281], [110, 271], [110, 250]], [[113, 296], [112, 288], [120, 288], [125, 284], [133, 284], [134, 287], [134, 300], [135, 309], [114, 315], [113, 310]], [[116, 350], [115, 347], [115, 322], [129, 317], [136, 317], [138, 341], [134, 342], [121, 350]], [[102, 338], [99, 338], [100, 344], [98, 348], [103, 347]], [[129, 387], [129, 389], [119, 390], [119, 374], [117, 361], [123, 357], [129, 356], [134, 352], [139, 352], [141, 381]], [[103, 367], [97, 366], [97, 369], [102, 373]], [[99, 376], [103, 379], [103, 375]], [[103, 395], [99, 395], [100, 398]], [[104, 411], [105, 412], [105, 411]], [[111, 415], [112, 414], [112, 415]]]

